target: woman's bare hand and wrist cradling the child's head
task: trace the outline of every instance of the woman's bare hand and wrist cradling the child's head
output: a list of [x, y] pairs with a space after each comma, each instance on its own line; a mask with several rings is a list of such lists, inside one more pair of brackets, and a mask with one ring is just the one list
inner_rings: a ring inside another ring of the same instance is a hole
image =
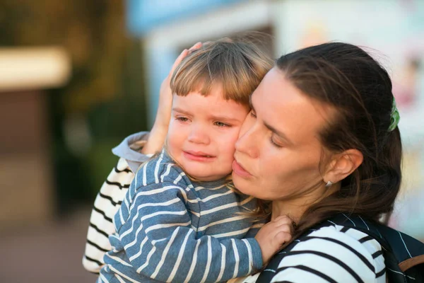
[[160, 85], [159, 93], [159, 105], [158, 112], [156, 112], [155, 123], [151, 129], [151, 134], [148, 137], [146, 144], [141, 149], [143, 154], [154, 154], [157, 151], [162, 149], [163, 144], [165, 143], [166, 134], [171, 120], [171, 110], [172, 110], [172, 91], [170, 87], [170, 82], [172, 74], [174, 74], [175, 68], [178, 64], [182, 62], [190, 52], [201, 47], [201, 42], [197, 42], [189, 50], [184, 49], [181, 54], [175, 59], [174, 64], [170, 70], [170, 73], [163, 80]]

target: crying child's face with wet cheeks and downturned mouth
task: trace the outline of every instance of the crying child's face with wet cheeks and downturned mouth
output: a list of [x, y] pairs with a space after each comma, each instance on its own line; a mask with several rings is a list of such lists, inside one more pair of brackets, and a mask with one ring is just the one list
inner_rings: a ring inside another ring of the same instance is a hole
[[232, 171], [235, 142], [248, 109], [225, 100], [219, 88], [208, 96], [174, 95], [167, 149], [186, 173], [218, 180]]

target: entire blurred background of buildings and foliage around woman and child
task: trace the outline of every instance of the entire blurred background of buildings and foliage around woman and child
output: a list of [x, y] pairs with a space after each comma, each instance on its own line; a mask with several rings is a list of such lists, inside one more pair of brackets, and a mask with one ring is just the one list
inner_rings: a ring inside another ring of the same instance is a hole
[[390, 225], [424, 241], [424, 1], [0, 0], [0, 282], [95, 282], [81, 258], [110, 150], [152, 125], [182, 49], [252, 30], [273, 57], [340, 40], [387, 67], [405, 150]]

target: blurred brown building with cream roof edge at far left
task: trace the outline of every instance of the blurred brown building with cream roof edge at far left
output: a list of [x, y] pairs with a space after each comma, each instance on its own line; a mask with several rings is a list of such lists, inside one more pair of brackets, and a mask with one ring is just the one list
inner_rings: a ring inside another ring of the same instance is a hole
[[40, 224], [54, 212], [45, 90], [62, 86], [70, 63], [57, 47], [0, 49], [0, 224]]

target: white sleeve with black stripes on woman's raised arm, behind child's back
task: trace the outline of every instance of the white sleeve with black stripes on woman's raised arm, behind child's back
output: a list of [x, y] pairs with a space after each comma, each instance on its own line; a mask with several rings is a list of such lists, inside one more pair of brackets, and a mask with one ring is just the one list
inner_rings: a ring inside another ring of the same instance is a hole
[[133, 179], [134, 173], [129, 170], [125, 159], [119, 158], [117, 166], [107, 176], [95, 198], [83, 256], [83, 266], [89, 272], [99, 273], [105, 264], [103, 256], [112, 249], [109, 236], [115, 232], [112, 218]]

